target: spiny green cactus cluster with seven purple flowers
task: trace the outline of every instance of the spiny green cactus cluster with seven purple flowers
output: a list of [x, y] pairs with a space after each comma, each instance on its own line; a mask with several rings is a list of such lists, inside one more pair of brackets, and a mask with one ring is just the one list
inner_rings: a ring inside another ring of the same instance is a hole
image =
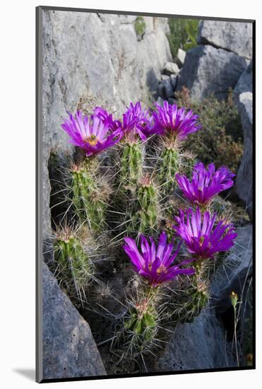
[[120, 120], [95, 108], [90, 117], [69, 115], [62, 127], [83, 153], [63, 191], [74, 228], [55, 231], [56, 274], [70, 293], [82, 291], [83, 315], [100, 344], [110, 339], [121, 360], [144, 360], [170, 323], [193, 320], [208, 304], [214, 264], [236, 236], [214, 200], [233, 175], [206, 169], [183, 149], [200, 127], [176, 105], [150, 112], [131, 103]]

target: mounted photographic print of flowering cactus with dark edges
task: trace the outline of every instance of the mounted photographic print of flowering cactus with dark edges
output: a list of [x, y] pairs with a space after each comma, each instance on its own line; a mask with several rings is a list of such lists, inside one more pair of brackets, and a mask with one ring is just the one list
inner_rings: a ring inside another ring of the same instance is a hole
[[37, 7], [37, 382], [255, 368], [255, 21]]

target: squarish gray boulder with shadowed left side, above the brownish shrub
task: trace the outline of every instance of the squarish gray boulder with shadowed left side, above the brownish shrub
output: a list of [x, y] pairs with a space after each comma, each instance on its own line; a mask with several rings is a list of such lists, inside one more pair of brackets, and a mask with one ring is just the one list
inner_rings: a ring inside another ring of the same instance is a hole
[[222, 100], [234, 89], [248, 61], [237, 54], [213, 46], [200, 45], [186, 52], [186, 60], [177, 85], [189, 88], [191, 97], [203, 100], [208, 94]]

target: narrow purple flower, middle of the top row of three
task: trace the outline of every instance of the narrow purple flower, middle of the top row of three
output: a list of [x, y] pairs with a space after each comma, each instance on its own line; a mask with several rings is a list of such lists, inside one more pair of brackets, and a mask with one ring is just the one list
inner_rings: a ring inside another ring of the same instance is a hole
[[129, 108], [123, 114], [121, 129], [131, 141], [136, 138], [136, 135], [145, 140], [148, 137], [151, 120], [148, 110], [143, 110], [141, 103], [138, 102], [135, 105], [130, 103]]

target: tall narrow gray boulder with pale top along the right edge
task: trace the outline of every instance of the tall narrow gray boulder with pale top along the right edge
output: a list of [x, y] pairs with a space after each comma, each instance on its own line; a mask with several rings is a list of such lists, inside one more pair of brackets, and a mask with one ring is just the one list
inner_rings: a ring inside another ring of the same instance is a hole
[[237, 108], [244, 132], [244, 153], [237, 172], [237, 194], [246, 203], [249, 218], [253, 217], [253, 97], [251, 92], [239, 95]]

